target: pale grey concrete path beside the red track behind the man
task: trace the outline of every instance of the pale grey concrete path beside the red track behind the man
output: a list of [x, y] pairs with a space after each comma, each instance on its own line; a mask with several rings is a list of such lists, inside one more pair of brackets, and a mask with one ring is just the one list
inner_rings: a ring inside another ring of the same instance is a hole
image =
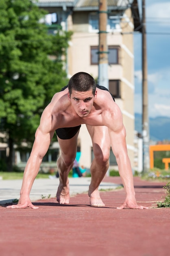
[[[53, 176], [52, 176], [53, 177]], [[70, 195], [87, 192], [91, 177], [70, 178]], [[55, 197], [59, 179], [35, 179], [31, 189], [30, 198], [32, 201]], [[19, 199], [22, 180], [0, 180], [0, 204], [4, 202], [12, 202]], [[115, 189], [118, 184], [102, 182], [99, 189]]]

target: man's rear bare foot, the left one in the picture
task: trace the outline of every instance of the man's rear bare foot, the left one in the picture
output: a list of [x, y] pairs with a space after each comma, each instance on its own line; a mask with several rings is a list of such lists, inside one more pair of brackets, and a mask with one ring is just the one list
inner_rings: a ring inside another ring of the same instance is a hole
[[69, 204], [70, 193], [69, 193], [69, 183], [66, 186], [63, 186], [61, 183], [57, 189], [57, 202], [59, 204]]

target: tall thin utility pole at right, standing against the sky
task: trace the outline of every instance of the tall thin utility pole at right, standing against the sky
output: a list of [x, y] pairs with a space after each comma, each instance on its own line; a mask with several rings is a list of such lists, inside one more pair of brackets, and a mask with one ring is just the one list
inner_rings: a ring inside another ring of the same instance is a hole
[[143, 173], [149, 171], [149, 121], [148, 121], [148, 82], [145, 0], [142, 0], [142, 136]]

